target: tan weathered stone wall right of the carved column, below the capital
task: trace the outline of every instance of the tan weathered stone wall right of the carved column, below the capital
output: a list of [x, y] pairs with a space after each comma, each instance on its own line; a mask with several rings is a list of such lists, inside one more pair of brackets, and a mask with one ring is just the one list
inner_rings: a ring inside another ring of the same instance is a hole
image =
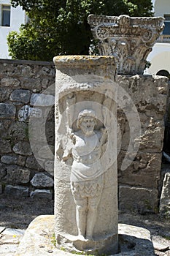
[[[151, 75], [118, 75], [117, 83], [134, 102], [141, 124], [141, 135], [136, 139], [140, 143], [139, 150], [131, 165], [121, 170], [122, 159], [129, 144], [130, 127], [134, 128], [133, 116], [128, 122], [122, 110], [118, 110], [117, 118], [122, 133], [118, 156], [120, 209], [139, 211], [142, 214], [158, 212], [164, 119], [169, 94], [167, 79]], [[128, 157], [131, 157], [131, 153], [128, 153]]]

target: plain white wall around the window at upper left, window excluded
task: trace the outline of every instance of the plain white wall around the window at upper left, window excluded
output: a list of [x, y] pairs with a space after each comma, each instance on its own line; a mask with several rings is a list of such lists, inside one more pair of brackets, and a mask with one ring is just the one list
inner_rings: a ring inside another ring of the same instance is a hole
[[[9, 0], [0, 1], [0, 7], [2, 4], [9, 4]], [[0, 19], [1, 19], [1, 8], [0, 8]], [[26, 22], [26, 15], [21, 7], [11, 7], [10, 14], [10, 26], [0, 26], [0, 58], [10, 59], [7, 45], [7, 35], [10, 31], [19, 31], [20, 25]]]

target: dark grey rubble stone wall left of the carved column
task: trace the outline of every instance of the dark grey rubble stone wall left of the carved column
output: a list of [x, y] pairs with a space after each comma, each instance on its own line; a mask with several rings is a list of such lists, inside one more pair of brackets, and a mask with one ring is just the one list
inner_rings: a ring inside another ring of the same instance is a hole
[[[53, 150], [54, 118], [50, 113], [43, 118], [49, 104], [37, 99], [46, 90], [46, 97], [53, 99], [54, 103], [55, 86], [47, 92], [54, 83], [53, 62], [0, 60], [1, 193], [19, 197], [53, 197], [53, 176], [44, 168], [48, 161], [53, 163], [53, 159], [47, 159], [42, 145], [41, 165], [36, 162], [29, 143], [28, 123], [30, 115], [37, 124], [47, 120], [46, 137]], [[37, 137], [35, 141], [41, 135]]]

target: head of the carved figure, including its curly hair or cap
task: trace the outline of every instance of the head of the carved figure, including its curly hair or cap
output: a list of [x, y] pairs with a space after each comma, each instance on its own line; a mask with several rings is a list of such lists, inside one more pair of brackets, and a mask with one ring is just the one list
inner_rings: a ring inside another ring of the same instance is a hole
[[77, 128], [85, 135], [90, 135], [96, 124], [96, 114], [93, 110], [82, 110], [77, 118]]

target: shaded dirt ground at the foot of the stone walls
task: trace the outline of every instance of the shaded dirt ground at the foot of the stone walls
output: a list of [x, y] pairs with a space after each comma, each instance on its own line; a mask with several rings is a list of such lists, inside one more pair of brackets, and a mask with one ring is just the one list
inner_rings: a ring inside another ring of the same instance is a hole
[[[33, 200], [29, 197], [18, 200], [0, 195], [0, 226], [26, 229], [35, 217], [53, 214], [53, 209], [53, 200]], [[158, 214], [139, 215], [120, 212], [119, 222], [147, 228], [154, 241], [170, 246], [170, 219]], [[170, 256], [170, 247], [165, 252], [155, 250], [155, 255]]]

